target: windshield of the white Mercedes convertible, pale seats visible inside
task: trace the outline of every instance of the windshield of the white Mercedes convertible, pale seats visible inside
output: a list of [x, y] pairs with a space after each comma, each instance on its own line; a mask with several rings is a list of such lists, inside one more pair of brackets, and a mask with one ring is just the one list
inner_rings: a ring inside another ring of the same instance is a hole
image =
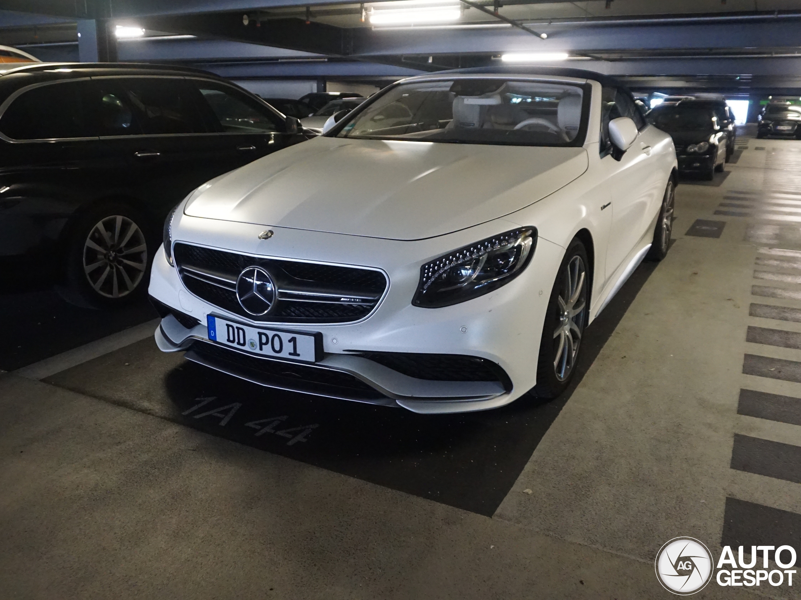
[[405, 83], [376, 98], [340, 138], [575, 146], [586, 121], [581, 86], [463, 78]]

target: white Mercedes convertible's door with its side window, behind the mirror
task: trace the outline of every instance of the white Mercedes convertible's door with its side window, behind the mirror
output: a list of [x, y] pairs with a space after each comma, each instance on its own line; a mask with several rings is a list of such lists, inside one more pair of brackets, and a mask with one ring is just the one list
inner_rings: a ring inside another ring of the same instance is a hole
[[[638, 138], [622, 156], [613, 148], [609, 122], [630, 117], [640, 131]], [[654, 224], [662, 203], [665, 182], [654, 166], [652, 151], [660, 141], [658, 130], [648, 126], [629, 94], [614, 87], [602, 90], [602, 164], [606, 164], [607, 182], [612, 199], [612, 226], [606, 246], [607, 282], [617, 281], [626, 268], [638, 242]]]

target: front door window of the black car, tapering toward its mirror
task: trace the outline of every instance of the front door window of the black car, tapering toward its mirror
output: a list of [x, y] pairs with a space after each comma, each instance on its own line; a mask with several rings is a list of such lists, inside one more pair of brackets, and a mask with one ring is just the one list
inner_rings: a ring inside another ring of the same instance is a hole
[[230, 86], [193, 81], [203, 97], [204, 112], [213, 130], [237, 134], [284, 131], [281, 118], [266, 106]]

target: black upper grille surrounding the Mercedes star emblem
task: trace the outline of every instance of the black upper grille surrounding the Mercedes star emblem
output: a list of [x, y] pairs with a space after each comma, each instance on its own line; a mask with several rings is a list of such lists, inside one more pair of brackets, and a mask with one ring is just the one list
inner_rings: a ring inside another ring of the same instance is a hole
[[[372, 312], [387, 286], [384, 274], [354, 266], [255, 258], [176, 243], [175, 266], [183, 285], [228, 312], [260, 322], [342, 323]], [[276, 283], [277, 299], [268, 314], [253, 315], [236, 298], [236, 279], [260, 266]]]

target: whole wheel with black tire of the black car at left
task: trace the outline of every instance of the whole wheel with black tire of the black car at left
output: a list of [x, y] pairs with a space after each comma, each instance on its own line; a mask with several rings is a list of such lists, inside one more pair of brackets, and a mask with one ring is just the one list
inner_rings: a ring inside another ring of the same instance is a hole
[[149, 230], [143, 215], [123, 202], [83, 214], [67, 241], [65, 285], [58, 293], [84, 308], [112, 308], [142, 298], [155, 250]]

